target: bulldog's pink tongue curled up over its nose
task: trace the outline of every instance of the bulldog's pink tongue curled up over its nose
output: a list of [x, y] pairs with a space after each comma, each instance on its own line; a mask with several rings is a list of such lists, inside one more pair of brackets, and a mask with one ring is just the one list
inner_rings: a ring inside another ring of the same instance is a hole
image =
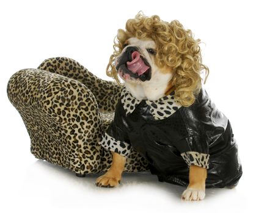
[[131, 58], [133, 58], [132, 61], [126, 62], [127, 68], [131, 72], [142, 75], [145, 71], [149, 69], [149, 66], [145, 65], [144, 61], [141, 59], [141, 55], [139, 54], [139, 52], [134, 51], [131, 54]]

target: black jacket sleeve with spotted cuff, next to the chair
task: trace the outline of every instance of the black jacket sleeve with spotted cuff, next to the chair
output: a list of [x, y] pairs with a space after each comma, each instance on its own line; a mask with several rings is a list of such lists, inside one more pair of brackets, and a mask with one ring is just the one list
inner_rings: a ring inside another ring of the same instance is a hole
[[122, 156], [128, 156], [131, 152], [131, 144], [123, 124], [123, 108], [120, 102], [115, 109], [114, 120], [112, 120], [106, 132], [103, 134], [100, 144], [112, 152], [119, 153]]

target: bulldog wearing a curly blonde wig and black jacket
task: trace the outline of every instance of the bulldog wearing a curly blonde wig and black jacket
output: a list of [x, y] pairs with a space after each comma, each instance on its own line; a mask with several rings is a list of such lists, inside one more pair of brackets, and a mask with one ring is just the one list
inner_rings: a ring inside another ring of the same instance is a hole
[[[227, 117], [202, 86], [200, 40], [174, 20], [141, 14], [119, 29], [107, 74], [123, 80], [114, 120], [100, 144], [112, 152], [100, 187], [117, 186], [131, 149], [159, 181], [185, 186], [183, 200], [203, 200], [206, 187], [235, 187], [242, 175]], [[206, 80], [205, 78], [205, 80]], [[205, 82], [204, 82], [205, 83]]]

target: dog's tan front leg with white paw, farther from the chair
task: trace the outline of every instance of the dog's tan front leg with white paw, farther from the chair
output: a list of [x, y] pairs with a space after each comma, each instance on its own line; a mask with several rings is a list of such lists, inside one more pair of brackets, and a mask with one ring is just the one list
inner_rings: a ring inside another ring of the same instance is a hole
[[181, 195], [183, 200], [203, 200], [205, 198], [205, 180], [207, 169], [199, 166], [189, 167], [189, 185]]

